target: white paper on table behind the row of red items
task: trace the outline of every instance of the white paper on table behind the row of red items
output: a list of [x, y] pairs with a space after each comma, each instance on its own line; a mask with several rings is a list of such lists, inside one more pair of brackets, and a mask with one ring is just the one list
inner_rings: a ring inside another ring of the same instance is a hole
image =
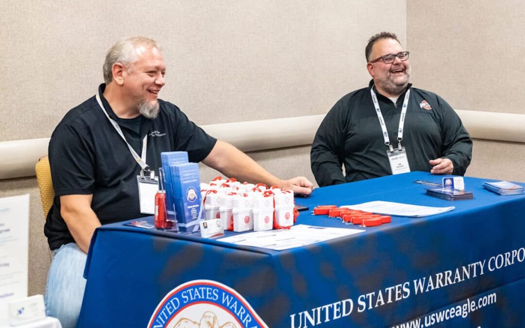
[[374, 202], [367, 202], [355, 205], [344, 205], [340, 206], [350, 209], [358, 209], [366, 212], [383, 214], [383, 215], [395, 215], [395, 216], [408, 216], [408, 217], [422, 217], [445, 213], [455, 209], [454, 206], [448, 207], [430, 207], [411, 205], [394, 202], [384, 202], [383, 200], [375, 200]]

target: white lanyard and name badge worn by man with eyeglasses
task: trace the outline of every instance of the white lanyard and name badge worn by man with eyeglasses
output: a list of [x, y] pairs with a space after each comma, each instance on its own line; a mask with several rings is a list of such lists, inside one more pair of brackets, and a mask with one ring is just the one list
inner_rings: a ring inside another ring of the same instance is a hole
[[388, 147], [386, 151], [386, 156], [388, 157], [388, 163], [390, 163], [390, 169], [392, 174], [401, 174], [410, 172], [410, 165], [408, 164], [408, 157], [406, 154], [406, 149], [401, 145], [403, 140], [403, 128], [405, 125], [405, 115], [408, 107], [408, 98], [410, 97], [410, 89], [406, 90], [405, 99], [403, 100], [403, 109], [401, 110], [401, 116], [399, 119], [399, 128], [397, 129], [397, 148], [390, 144], [390, 137], [388, 137], [388, 131], [386, 130], [385, 120], [383, 119], [383, 113], [379, 108], [379, 102], [377, 101], [377, 96], [374, 92], [374, 88], [370, 89], [370, 94], [372, 95], [372, 101], [374, 102], [375, 112], [377, 114], [377, 119], [379, 119], [379, 124], [381, 125], [381, 130], [383, 131], [383, 139], [385, 145]]

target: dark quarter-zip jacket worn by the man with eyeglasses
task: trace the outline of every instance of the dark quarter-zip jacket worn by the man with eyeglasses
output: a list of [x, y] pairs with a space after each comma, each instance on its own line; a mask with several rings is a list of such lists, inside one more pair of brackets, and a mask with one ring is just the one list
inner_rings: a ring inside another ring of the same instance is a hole
[[[392, 174], [383, 133], [370, 88], [346, 94], [328, 112], [312, 143], [310, 161], [319, 186], [360, 181]], [[374, 87], [375, 88], [375, 87]], [[464, 175], [472, 156], [472, 140], [450, 105], [437, 94], [412, 88], [402, 146], [411, 171], [429, 172], [429, 160], [445, 157], [455, 175]], [[376, 91], [374, 89], [374, 91]], [[390, 143], [397, 147], [397, 129], [405, 97], [396, 104], [376, 91]], [[343, 176], [342, 165], [346, 172]]]

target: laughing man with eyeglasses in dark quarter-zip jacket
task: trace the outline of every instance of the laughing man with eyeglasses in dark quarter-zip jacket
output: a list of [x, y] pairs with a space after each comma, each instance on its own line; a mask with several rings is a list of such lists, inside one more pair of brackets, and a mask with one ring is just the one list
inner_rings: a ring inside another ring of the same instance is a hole
[[310, 161], [319, 186], [411, 171], [465, 174], [472, 140], [443, 98], [408, 83], [408, 55], [393, 33], [370, 38], [369, 87], [341, 98], [313, 140]]

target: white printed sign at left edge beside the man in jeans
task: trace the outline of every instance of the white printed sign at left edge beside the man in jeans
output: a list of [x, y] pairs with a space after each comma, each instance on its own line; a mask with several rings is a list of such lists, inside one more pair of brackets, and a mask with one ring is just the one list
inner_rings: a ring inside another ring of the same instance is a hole
[[0, 198], [0, 325], [7, 302], [27, 297], [29, 195]]

